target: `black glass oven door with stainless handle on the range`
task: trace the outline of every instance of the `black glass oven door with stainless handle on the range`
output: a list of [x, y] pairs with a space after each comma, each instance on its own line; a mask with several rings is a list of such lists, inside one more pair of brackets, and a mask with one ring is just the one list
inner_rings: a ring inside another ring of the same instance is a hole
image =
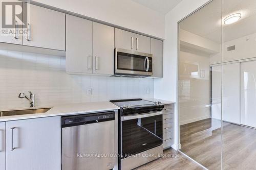
[[162, 111], [121, 116], [121, 159], [163, 143]]

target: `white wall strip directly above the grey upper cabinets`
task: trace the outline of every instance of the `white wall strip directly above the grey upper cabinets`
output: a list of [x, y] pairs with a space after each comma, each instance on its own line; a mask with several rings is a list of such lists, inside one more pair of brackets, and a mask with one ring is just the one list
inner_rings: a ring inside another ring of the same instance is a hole
[[131, 0], [34, 0], [34, 2], [164, 38], [164, 15]]

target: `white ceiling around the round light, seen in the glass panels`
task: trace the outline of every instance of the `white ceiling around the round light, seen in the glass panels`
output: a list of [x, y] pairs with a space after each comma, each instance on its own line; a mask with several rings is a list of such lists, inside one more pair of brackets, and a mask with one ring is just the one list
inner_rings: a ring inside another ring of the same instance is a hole
[[[222, 6], [223, 18], [233, 13], [241, 13], [241, 19], [221, 29], [221, 0], [214, 0], [180, 24], [181, 29], [221, 43], [256, 33], [256, 1], [225, 0]], [[223, 31], [223, 34], [221, 34]]]

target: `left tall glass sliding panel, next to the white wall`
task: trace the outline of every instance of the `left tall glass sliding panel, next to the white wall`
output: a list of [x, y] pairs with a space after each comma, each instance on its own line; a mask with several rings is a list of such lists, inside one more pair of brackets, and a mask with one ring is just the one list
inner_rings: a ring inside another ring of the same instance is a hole
[[178, 114], [181, 152], [221, 169], [221, 0], [179, 22]]

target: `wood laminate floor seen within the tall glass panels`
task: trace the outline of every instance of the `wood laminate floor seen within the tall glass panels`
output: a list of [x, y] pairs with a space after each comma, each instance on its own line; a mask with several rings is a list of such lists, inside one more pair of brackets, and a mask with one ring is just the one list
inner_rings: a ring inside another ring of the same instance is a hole
[[[208, 169], [256, 169], [256, 130], [204, 119], [180, 126], [181, 151]], [[222, 150], [222, 159], [221, 159]]]

